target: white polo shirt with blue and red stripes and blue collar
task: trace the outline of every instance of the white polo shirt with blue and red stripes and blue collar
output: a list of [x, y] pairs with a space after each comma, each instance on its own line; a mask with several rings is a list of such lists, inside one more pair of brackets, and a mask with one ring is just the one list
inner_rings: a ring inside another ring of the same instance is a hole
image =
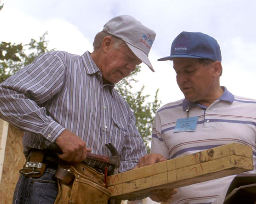
[[[222, 88], [225, 89], [223, 95], [208, 108], [186, 99], [161, 107], [157, 111], [152, 128], [151, 152], [173, 159], [220, 145], [241, 143], [252, 146], [255, 163], [256, 100], [234, 96], [225, 87]], [[187, 117], [188, 106], [189, 117], [198, 116], [196, 130], [174, 133], [177, 119]], [[172, 202], [209, 204], [233, 177], [179, 188]]]

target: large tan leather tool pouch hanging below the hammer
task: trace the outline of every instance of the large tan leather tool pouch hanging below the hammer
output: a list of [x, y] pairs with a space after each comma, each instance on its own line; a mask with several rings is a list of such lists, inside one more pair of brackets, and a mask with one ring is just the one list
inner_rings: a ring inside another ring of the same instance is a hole
[[83, 163], [69, 168], [60, 164], [55, 177], [59, 192], [54, 204], [107, 204], [109, 200], [111, 193], [105, 188], [104, 174]]

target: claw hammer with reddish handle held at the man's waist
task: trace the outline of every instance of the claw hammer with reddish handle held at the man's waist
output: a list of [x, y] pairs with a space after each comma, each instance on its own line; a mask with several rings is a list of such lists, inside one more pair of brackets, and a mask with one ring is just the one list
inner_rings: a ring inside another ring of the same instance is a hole
[[[112, 171], [111, 173], [118, 173], [118, 168], [120, 166], [120, 155], [119, 152], [117, 151], [116, 147], [112, 145], [111, 143], [105, 144], [107, 149], [110, 150], [112, 156], [102, 156], [102, 155], [96, 155], [92, 154], [91, 152], [86, 153], [86, 159], [90, 160], [95, 160], [95, 161], [100, 161], [107, 163], [112, 166]], [[40, 149], [43, 150], [49, 150], [52, 152], [55, 152], [57, 154], [62, 154], [62, 150], [56, 143], [52, 143], [48, 140], [44, 140], [40, 146]], [[82, 163], [85, 163], [86, 160], [82, 161]]]

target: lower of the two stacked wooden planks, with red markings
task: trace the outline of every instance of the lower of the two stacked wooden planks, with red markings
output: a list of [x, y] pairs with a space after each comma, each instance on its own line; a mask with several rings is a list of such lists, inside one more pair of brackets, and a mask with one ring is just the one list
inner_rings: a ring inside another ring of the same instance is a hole
[[[118, 184], [118, 192], [113, 192], [111, 197], [126, 200], [148, 195], [154, 189], [179, 188], [250, 170], [253, 170], [251, 158], [233, 155]], [[114, 189], [115, 186], [109, 188]]]

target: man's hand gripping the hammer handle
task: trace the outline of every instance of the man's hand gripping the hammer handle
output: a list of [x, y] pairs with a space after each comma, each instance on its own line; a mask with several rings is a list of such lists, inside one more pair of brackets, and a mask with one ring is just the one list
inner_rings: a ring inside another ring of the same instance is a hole
[[81, 162], [86, 159], [86, 152], [91, 151], [86, 149], [85, 141], [67, 129], [60, 134], [55, 143], [62, 150], [63, 153], [58, 156], [64, 161]]

